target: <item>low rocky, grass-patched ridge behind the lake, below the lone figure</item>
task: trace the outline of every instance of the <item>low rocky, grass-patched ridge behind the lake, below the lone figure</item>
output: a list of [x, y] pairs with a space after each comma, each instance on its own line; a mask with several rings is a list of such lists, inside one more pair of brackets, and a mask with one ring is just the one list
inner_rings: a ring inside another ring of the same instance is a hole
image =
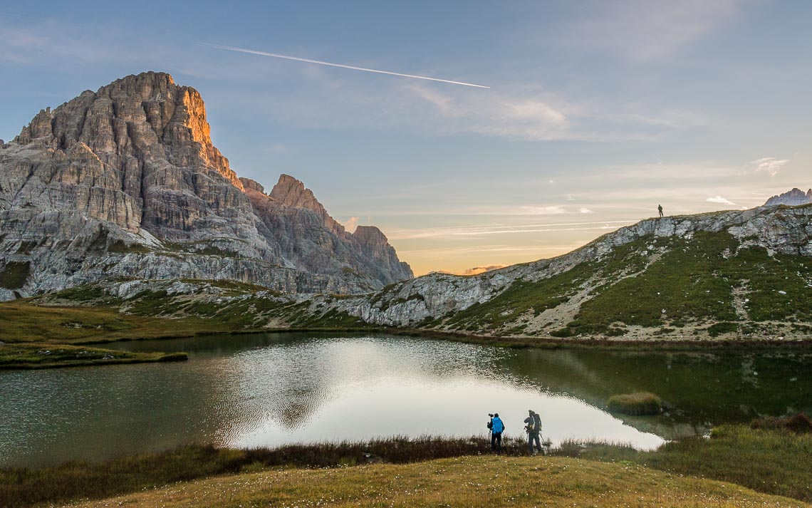
[[557, 258], [431, 273], [363, 295], [107, 281], [40, 305], [118, 306], [229, 329], [394, 327], [521, 343], [796, 340], [812, 334], [812, 204], [646, 219]]

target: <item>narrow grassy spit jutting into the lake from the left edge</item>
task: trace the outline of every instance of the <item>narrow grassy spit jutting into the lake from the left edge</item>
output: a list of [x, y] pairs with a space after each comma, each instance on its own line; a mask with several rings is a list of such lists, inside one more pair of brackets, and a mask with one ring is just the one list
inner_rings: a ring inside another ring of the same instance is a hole
[[130, 353], [87, 346], [36, 343], [0, 345], [0, 370], [176, 362], [187, 359], [188, 355], [185, 353]]

